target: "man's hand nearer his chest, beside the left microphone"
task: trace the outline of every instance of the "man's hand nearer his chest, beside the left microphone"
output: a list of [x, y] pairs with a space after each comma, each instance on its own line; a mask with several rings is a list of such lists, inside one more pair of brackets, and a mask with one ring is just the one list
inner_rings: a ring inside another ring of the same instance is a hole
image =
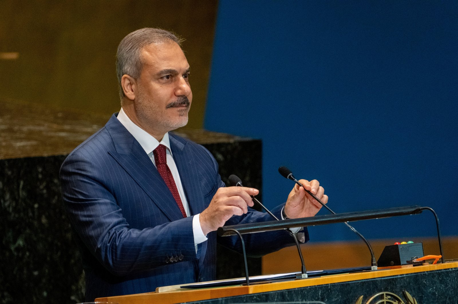
[[256, 195], [259, 190], [245, 187], [221, 187], [213, 196], [210, 205], [201, 212], [199, 221], [204, 235], [222, 227], [233, 215], [242, 215], [252, 207], [250, 195]]

